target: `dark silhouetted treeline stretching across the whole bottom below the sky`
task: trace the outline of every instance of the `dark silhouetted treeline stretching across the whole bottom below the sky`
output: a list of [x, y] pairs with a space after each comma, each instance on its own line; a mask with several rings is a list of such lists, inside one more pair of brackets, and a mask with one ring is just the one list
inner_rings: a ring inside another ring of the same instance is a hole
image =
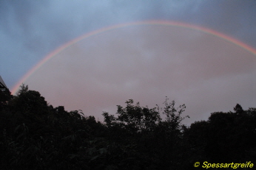
[[[132, 99], [104, 123], [47, 104], [21, 86], [0, 91], [1, 169], [195, 169], [194, 163], [256, 164], [256, 108], [182, 124], [185, 105], [141, 107]], [[216, 108], [218, 109], [218, 108]], [[164, 114], [165, 118], [161, 118]], [[256, 165], [255, 165], [256, 166]], [[200, 167], [197, 169], [201, 169]]]

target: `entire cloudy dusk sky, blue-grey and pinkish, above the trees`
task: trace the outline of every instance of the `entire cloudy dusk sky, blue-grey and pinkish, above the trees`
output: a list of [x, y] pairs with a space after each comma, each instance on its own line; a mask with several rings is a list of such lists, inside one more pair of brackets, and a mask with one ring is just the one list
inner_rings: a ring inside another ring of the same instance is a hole
[[102, 121], [128, 99], [155, 107], [167, 96], [186, 105], [186, 124], [256, 107], [253, 0], [1, 0], [0, 23], [5, 84], [24, 82], [53, 107]]

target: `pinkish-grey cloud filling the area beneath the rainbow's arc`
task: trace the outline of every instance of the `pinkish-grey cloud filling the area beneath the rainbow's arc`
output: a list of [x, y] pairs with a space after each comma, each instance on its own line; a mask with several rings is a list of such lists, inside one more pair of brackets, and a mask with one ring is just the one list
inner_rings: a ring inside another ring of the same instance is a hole
[[236, 101], [252, 105], [252, 95], [242, 97], [253, 93], [252, 57], [241, 47], [198, 30], [127, 26], [75, 43], [26, 83], [50, 104], [81, 109], [101, 121], [102, 111], [115, 113], [115, 105], [124, 105], [127, 99], [155, 107], [168, 96], [187, 105], [192, 122], [218, 109], [232, 110]]

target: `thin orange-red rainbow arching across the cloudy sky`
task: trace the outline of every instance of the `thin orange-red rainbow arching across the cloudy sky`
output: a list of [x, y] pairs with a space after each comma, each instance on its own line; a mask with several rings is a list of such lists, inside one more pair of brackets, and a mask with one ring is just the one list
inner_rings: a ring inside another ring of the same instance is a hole
[[127, 24], [118, 24], [118, 25], [114, 25], [114, 26], [104, 27], [102, 29], [97, 29], [95, 31], [92, 31], [92, 32], [89, 32], [87, 34], [81, 35], [80, 37], [75, 38], [75, 39], [65, 43], [62, 46], [59, 46], [53, 52], [50, 52], [50, 54], [47, 54], [47, 56], [44, 57], [44, 59], [42, 59], [41, 61], [39, 61], [35, 66], [33, 66], [33, 68], [31, 68], [30, 71], [28, 71], [27, 74], [25, 74], [18, 81], [18, 83], [13, 87], [11, 92], [12, 93], [16, 93], [16, 91], [18, 91], [19, 86], [23, 82], [25, 82], [28, 79], [28, 77], [30, 77], [30, 75], [33, 74], [33, 72], [35, 72], [38, 68], [40, 68], [41, 65], [44, 65], [44, 63], [47, 63], [47, 61], [49, 61], [51, 58], [53, 58], [55, 56], [55, 54], [58, 54], [59, 52], [62, 52], [64, 49], [66, 49], [69, 46], [72, 46], [74, 43], [77, 43], [78, 41], [83, 40], [84, 38], [89, 38], [92, 35], [97, 35], [97, 34], [99, 34], [101, 32], [109, 31], [111, 29], [118, 29], [118, 28], [125, 27], [125, 26], [135, 26], [135, 25], [178, 26], [178, 27], [183, 27], [183, 28], [186, 28], [186, 29], [198, 30], [198, 31], [201, 31], [201, 32], [205, 32], [206, 34], [214, 35], [214, 36], [216, 36], [218, 38], [226, 40], [229, 43], [233, 43], [236, 46], [239, 46], [240, 48], [245, 49], [247, 52], [250, 52], [250, 53], [252, 53], [253, 55], [256, 56], [256, 50], [253, 49], [251, 46], [248, 46], [246, 43], [242, 43], [241, 41], [236, 40], [235, 38], [231, 38], [228, 35], [224, 35], [224, 34], [222, 34], [220, 32], [217, 32], [217, 31], [212, 30], [212, 29], [204, 28], [202, 26], [196, 26], [196, 25], [186, 24], [186, 23], [177, 22], [177, 21], [138, 21], [138, 22], [132, 22], [132, 23], [127, 23]]

